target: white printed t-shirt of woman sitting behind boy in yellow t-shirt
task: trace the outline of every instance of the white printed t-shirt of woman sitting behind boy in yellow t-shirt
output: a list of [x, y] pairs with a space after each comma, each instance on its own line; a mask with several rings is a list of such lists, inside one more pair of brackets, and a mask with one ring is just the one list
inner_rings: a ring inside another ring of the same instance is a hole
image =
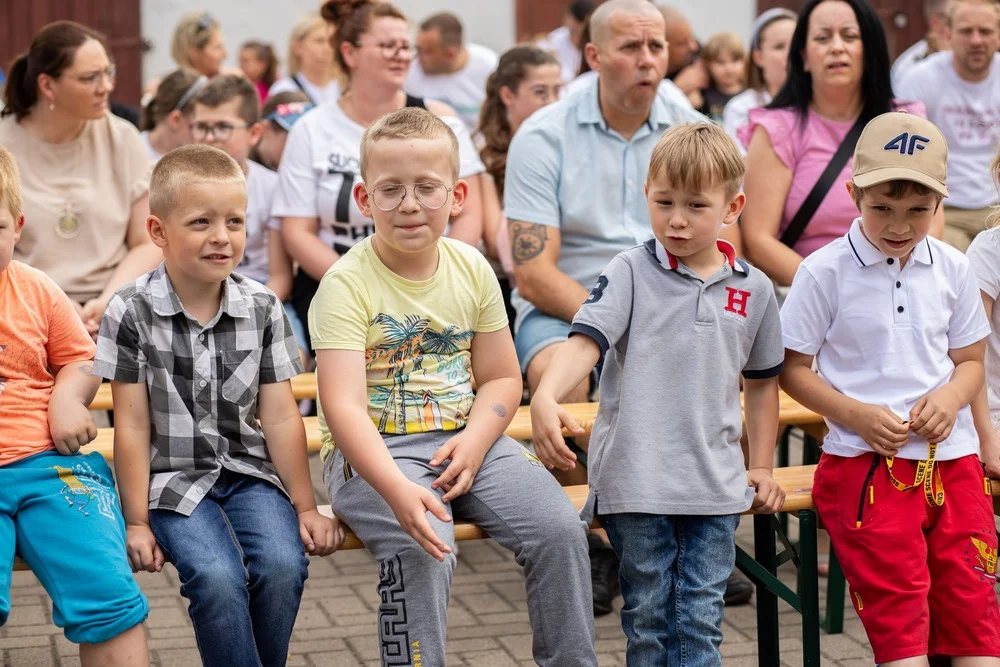
[[[486, 170], [469, 131], [454, 116], [441, 118], [458, 137], [459, 176]], [[304, 115], [288, 134], [278, 169], [279, 185], [271, 214], [319, 218], [319, 238], [343, 255], [375, 232], [351, 191], [361, 181], [364, 127], [347, 117], [340, 104], [326, 104]]]

